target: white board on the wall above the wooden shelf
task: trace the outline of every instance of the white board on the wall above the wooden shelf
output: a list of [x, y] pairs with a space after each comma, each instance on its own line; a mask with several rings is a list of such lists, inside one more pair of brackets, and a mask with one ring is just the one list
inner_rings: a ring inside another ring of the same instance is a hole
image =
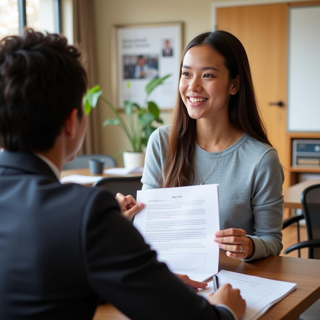
[[289, 9], [288, 131], [320, 131], [320, 6]]

